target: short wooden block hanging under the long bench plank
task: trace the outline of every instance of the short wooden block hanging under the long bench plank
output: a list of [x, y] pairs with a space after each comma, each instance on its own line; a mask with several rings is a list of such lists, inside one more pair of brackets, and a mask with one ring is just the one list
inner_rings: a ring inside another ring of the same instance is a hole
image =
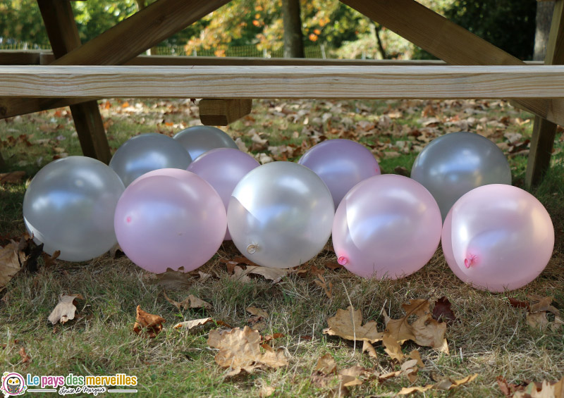
[[252, 99], [202, 99], [200, 121], [209, 126], [226, 126], [251, 113]]

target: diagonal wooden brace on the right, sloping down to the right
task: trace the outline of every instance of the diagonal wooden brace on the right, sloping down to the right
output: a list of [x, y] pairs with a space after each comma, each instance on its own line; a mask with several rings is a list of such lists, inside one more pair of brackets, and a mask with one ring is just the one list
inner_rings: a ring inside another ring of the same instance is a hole
[[[524, 65], [486, 40], [415, 0], [341, 0], [451, 65]], [[564, 100], [520, 100], [517, 106], [564, 124]]]

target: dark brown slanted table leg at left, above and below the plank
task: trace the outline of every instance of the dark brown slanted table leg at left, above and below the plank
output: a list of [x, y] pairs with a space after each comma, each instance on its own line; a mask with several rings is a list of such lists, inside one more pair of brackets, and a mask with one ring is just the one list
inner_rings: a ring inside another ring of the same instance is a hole
[[[65, 0], [37, 0], [49, 42], [56, 58], [80, 46], [71, 3]], [[71, 106], [82, 154], [109, 163], [110, 147], [97, 101]]]

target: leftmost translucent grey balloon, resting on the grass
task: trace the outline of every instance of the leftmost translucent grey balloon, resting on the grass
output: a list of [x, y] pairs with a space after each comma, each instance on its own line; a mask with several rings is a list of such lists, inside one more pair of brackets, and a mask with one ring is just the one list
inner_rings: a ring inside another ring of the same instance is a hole
[[123, 182], [101, 161], [69, 156], [44, 166], [23, 198], [23, 220], [37, 244], [59, 259], [87, 261], [118, 241], [114, 212]]

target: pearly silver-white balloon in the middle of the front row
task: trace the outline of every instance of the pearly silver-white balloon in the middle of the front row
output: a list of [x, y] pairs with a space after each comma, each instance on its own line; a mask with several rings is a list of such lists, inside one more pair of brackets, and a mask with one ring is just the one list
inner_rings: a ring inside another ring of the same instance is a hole
[[233, 190], [227, 225], [247, 259], [272, 268], [299, 266], [325, 246], [335, 208], [323, 180], [292, 162], [251, 170]]

